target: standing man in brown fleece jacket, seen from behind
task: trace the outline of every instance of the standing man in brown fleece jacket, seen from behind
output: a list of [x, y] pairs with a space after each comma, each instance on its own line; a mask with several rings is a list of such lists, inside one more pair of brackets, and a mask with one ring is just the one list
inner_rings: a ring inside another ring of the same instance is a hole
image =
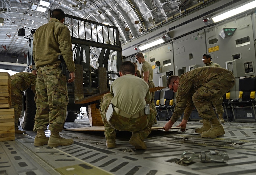
[[[34, 146], [70, 145], [73, 139], [59, 136], [64, 128], [66, 108], [68, 104], [68, 90], [65, 73], [60, 67], [59, 55], [63, 56], [70, 72], [71, 83], [75, 79], [75, 64], [72, 59], [72, 44], [70, 32], [63, 25], [65, 14], [61, 9], [52, 11], [50, 21], [39, 27], [34, 33], [33, 58], [37, 67], [36, 79], [36, 114], [34, 131], [37, 132]], [[50, 138], [45, 130], [49, 124]]]

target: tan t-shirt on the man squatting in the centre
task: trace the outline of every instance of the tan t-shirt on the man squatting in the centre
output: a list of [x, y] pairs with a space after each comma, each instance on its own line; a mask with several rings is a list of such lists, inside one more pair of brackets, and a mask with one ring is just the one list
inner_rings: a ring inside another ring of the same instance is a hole
[[134, 115], [145, 108], [145, 97], [150, 99], [148, 84], [131, 74], [114, 80], [110, 85], [110, 93], [114, 96], [111, 103], [129, 115]]

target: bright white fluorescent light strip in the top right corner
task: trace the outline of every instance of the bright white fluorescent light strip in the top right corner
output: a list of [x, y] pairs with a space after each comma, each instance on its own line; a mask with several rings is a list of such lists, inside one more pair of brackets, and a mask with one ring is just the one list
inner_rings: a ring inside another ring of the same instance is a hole
[[235, 8], [233, 10], [228, 10], [227, 12], [224, 12], [220, 15], [217, 15], [217, 16], [213, 16], [212, 17], [212, 20], [216, 23], [216, 22], [219, 22], [219, 21], [222, 21], [226, 18], [229, 18], [229, 17], [232, 17], [232, 16], [235, 16], [239, 13], [243, 13], [247, 10], [250, 10], [250, 9], [253, 9], [256, 7], [256, 0], [255, 1], [252, 1], [248, 4], [245, 4], [243, 6], [240, 6], [238, 8]]

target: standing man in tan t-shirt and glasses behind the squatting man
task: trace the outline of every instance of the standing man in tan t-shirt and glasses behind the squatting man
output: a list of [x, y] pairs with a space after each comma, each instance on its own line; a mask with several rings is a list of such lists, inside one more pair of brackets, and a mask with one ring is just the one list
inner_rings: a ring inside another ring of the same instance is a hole
[[[138, 54], [136, 54], [136, 60], [139, 62], [139, 64], [143, 64], [141, 67], [141, 78], [144, 79], [146, 81], [146, 83], [148, 83], [149, 89], [154, 88], [155, 84], [153, 83], [153, 70], [152, 70], [152, 66], [145, 60], [144, 55], [139, 52]], [[154, 98], [155, 98], [155, 92], [151, 92], [151, 103], [150, 103], [150, 107], [154, 110], [155, 113], [155, 117], [154, 117], [154, 123], [157, 123], [157, 109], [156, 109], [156, 105], [154, 102]]]

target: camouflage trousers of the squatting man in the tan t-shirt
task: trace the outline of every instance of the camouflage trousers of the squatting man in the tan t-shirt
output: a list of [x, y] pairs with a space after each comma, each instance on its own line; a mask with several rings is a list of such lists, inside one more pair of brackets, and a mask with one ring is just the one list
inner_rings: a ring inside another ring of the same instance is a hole
[[106, 140], [116, 138], [115, 129], [119, 131], [130, 131], [132, 134], [138, 133], [141, 140], [147, 138], [147, 136], [151, 133], [151, 127], [153, 124], [153, 109], [150, 108], [149, 115], [144, 114], [138, 118], [126, 118], [116, 114], [114, 111], [110, 121], [108, 122], [105, 114], [108, 106], [111, 104], [110, 101], [112, 98], [113, 96], [110, 93], [107, 93], [102, 96], [100, 101], [100, 113], [105, 127]]

